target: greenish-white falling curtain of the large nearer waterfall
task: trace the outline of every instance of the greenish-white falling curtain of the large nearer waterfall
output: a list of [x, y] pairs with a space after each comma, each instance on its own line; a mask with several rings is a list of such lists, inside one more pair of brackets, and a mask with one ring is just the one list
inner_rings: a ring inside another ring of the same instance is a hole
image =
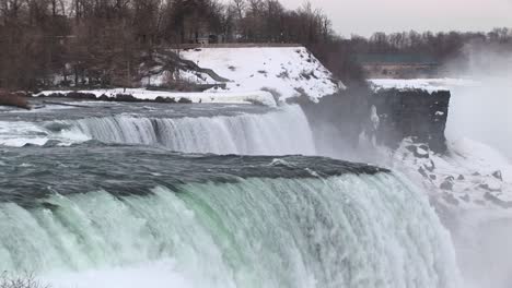
[[179, 189], [0, 204], [0, 269], [79, 288], [458, 285], [447, 231], [392, 175]]

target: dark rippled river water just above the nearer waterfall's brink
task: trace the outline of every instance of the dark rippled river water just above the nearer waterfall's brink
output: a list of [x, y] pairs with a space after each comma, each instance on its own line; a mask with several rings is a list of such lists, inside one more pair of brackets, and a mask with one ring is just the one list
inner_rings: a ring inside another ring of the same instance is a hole
[[364, 164], [303, 156], [218, 156], [89, 142], [70, 147], [0, 148], [0, 202], [31, 206], [50, 194], [107, 190], [149, 194], [158, 184], [238, 182], [389, 172]]

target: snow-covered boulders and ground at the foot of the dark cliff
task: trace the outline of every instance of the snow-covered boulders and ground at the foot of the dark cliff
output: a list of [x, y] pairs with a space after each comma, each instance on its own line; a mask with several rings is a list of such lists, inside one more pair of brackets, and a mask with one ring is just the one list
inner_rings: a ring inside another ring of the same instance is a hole
[[[489, 201], [489, 195], [502, 204], [510, 204], [512, 164], [504, 155], [469, 139], [459, 139], [447, 145], [449, 153], [439, 155], [407, 139], [396, 152], [391, 153], [392, 166], [447, 205], [465, 209], [504, 208]], [[427, 157], [415, 156], [411, 146], [416, 147], [417, 154]], [[497, 177], [500, 175], [501, 179]]]

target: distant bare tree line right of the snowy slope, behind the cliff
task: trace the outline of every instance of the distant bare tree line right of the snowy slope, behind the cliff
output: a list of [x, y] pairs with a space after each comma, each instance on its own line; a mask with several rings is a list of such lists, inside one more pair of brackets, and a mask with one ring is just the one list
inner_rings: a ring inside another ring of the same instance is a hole
[[[361, 64], [389, 59], [428, 61], [441, 69], [454, 62], [459, 69], [470, 64], [472, 49], [511, 52], [512, 28], [491, 32], [424, 32], [374, 33], [370, 37], [352, 35], [312, 48], [323, 62], [348, 84], [361, 83], [365, 75]], [[440, 75], [443, 76], [443, 75]]]

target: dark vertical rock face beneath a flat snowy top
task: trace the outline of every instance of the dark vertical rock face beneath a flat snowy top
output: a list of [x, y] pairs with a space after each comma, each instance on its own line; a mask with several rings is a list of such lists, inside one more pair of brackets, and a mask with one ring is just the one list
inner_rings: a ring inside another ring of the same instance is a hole
[[446, 152], [444, 130], [449, 113], [449, 91], [381, 89], [370, 97], [380, 118], [376, 140], [392, 148], [411, 137], [428, 143], [435, 153]]

